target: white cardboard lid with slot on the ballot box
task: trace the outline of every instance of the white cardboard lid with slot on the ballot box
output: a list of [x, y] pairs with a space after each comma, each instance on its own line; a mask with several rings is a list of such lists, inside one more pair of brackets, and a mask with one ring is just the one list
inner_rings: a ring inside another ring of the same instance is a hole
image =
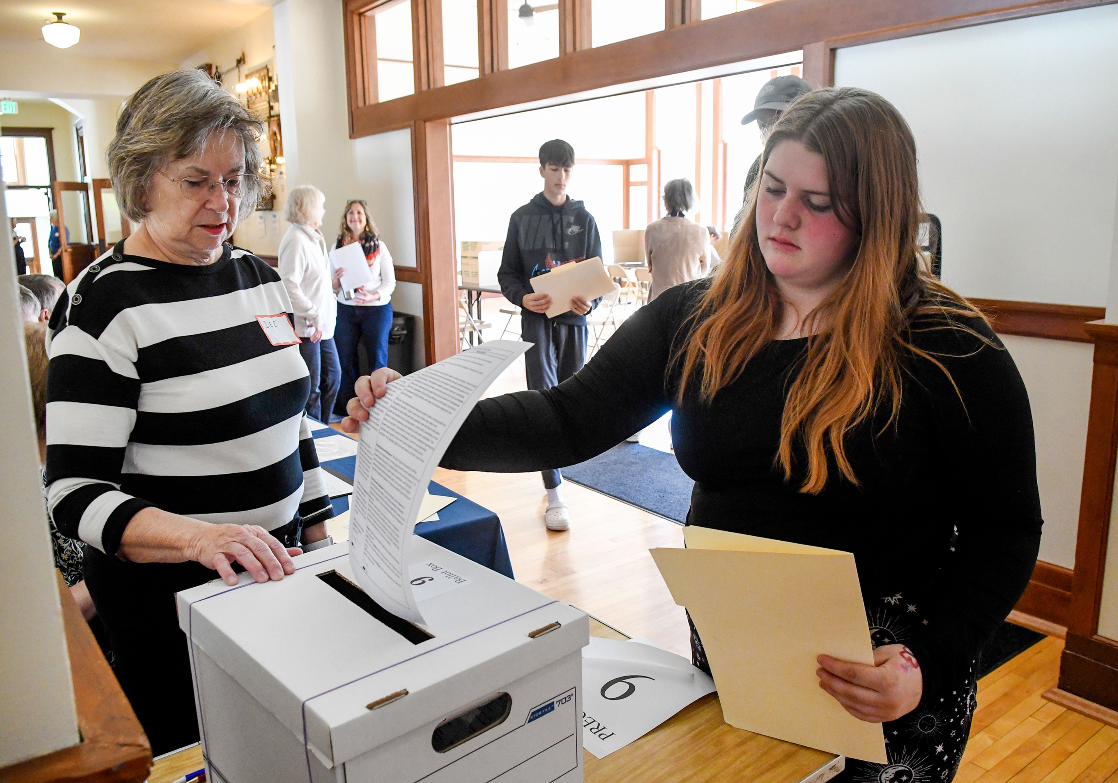
[[[452, 713], [587, 643], [586, 615], [426, 539], [413, 556], [463, 578], [420, 601], [433, 639], [413, 644], [319, 575], [353, 581], [347, 545], [294, 558], [295, 574], [177, 595], [179, 624], [326, 766]], [[418, 595], [417, 595], [418, 597]], [[537, 638], [529, 632], [558, 622]], [[369, 709], [386, 696], [396, 701]], [[203, 696], [200, 696], [202, 698]], [[205, 704], [202, 704], [205, 720]]]

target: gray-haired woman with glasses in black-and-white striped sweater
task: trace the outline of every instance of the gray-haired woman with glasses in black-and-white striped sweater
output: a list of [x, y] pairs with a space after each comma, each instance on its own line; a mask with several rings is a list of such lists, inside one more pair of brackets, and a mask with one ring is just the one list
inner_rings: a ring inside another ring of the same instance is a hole
[[114, 672], [155, 755], [198, 739], [174, 594], [293, 574], [333, 516], [280, 275], [229, 244], [257, 204], [263, 123], [200, 70], [132, 95], [108, 145], [139, 227], [50, 320], [47, 502], [85, 543]]

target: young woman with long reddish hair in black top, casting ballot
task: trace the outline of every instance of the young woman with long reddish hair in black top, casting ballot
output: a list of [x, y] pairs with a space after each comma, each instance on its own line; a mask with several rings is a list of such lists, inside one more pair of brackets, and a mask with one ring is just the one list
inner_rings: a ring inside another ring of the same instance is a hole
[[[836, 780], [949, 781], [978, 653], [1040, 543], [1025, 388], [982, 314], [928, 272], [916, 144], [890, 103], [800, 97], [761, 172], [712, 279], [665, 291], [558, 387], [479, 403], [443, 465], [568, 465], [671, 408], [689, 523], [854, 554], [875, 666], [819, 655], [816, 673], [884, 723], [891, 763], [850, 760]], [[343, 426], [394, 378], [362, 378]], [[693, 628], [692, 651], [705, 668]]]

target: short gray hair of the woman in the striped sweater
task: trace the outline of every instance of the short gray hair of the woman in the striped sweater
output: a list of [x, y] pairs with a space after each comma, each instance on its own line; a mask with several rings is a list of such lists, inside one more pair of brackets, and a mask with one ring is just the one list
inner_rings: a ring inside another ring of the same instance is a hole
[[188, 158], [214, 133], [233, 131], [245, 143], [244, 218], [256, 209], [268, 182], [260, 179], [258, 141], [264, 123], [201, 70], [184, 68], [157, 76], [127, 100], [108, 144], [108, 176], [121, 211], [140, 223], [148, 216], [148, 188], [167, 160]]

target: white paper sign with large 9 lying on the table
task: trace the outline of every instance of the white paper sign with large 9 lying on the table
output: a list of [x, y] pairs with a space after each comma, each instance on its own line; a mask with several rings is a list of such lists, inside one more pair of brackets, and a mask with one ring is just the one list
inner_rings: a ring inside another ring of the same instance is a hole
[[691, 661], [647, 639], [590, 636], [582, 648], [582, 747], [608, 756], [713, 690]]

